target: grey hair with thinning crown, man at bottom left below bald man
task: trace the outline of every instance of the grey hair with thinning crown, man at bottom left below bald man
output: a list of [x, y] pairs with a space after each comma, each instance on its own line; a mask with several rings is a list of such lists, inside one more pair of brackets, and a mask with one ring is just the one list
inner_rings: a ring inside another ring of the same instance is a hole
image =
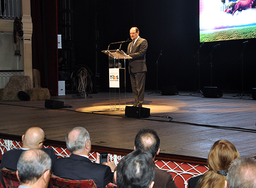
[[51, 170], [51, 158], [42, 149], [29, 149], [20, 155], [17, 163], [21, 183], [34, 184], [45, 171]]

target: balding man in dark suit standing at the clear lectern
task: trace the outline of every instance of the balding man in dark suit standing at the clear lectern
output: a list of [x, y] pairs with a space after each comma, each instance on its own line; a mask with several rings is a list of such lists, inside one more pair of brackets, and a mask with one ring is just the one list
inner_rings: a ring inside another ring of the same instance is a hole
[[135, 99], [133, 106], [142, 106], [146, 81], [146, 50], [147, 41], [139, 37], [137, 27], [130, 29], [130, 37], [133, 40], [128, 45], [127, 54], [132, 57], [129, 60], [128, 70], [131, 79], [132, 92]]

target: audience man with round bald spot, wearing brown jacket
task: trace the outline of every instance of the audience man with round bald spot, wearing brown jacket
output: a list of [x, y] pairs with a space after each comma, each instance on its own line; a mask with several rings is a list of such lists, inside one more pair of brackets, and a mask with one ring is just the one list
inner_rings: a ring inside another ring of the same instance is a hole
[[[135, 137], [134, 149], [147, 151], [154, 161], [155, 155], [160, 152], [160, 139], [153, 129], [141, 129]], [[177, 188], [172, 175], [155, 166], [154, 188]]]

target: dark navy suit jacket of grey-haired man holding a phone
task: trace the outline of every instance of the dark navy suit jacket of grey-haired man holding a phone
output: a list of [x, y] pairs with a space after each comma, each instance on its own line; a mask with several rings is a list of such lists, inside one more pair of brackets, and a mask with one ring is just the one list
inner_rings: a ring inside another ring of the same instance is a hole
[[93, 163], [84, 156], [74, 154], [56, 161], [54, 175], [70, 180], [94, 180], [97, 188], [105, 188], [113, 181], [109, 166]]

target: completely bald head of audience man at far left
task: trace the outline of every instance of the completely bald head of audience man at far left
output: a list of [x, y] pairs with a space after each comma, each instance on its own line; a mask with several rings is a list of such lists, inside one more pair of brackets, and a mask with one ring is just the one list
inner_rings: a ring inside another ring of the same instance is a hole
[[[29, 149], [40, 148], [39, 144], [44, 140], [44, 131], [40, 127], [29, 128], [23, 136], [23, 147]], [[43, 144], [42, 144], [43, 145]]]

